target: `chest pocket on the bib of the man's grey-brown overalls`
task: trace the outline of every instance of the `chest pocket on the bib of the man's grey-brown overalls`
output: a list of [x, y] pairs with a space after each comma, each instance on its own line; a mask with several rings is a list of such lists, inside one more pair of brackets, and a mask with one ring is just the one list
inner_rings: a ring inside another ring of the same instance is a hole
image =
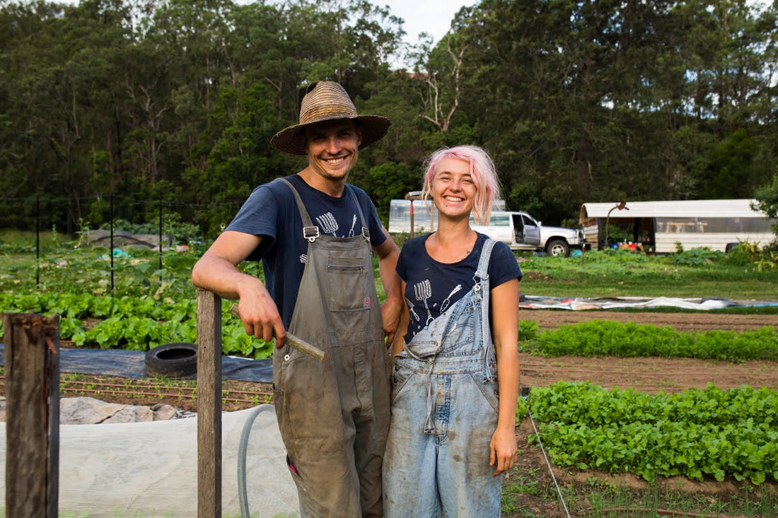
[[[361, 257], [327, 257], [327, 282], [331, 311], [370, 309], [367, 269]], [[370, 272], [372, 274], [372, 271]]]

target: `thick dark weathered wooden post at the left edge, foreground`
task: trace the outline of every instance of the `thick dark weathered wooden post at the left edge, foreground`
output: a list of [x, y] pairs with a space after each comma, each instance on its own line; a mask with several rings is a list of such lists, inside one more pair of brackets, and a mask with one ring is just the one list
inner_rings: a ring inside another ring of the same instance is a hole
[[56, 518], [59, 317], [4, 313], [5, 516]]

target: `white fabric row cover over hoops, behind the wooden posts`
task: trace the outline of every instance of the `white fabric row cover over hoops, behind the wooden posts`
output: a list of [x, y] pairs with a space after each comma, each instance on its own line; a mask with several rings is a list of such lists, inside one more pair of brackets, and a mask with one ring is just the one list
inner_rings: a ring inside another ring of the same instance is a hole
[[[197, 516], [197, 425], [197, 417], [60, 425], [59, 516]], [[5, 440], [5, 423], [0, 423], [0, 508], [5, 507]], [[246, 473], [240, 484], [239, 465]], [[272, 405], [222, 414], [223, 516], [240, 516], [243, 480], [250, 516], [299, 516]]]

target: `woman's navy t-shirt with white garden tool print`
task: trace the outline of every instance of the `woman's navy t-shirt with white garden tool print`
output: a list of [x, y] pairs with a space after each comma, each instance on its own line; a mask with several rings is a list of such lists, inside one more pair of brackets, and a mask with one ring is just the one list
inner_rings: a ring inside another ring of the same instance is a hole
[[[397, 261], [397, 273], [406, 282], [405, 303], [411, 318], [405, 334], [406, 344], [472, 289], [481, 250], [488, 239], [485, 234], [478, 233], [468, 257], [456, 263], [440, 263], [427, 254], [425, 242], [428, 237], [429, 234], [406, 241]], [[489, 289], [522, 277], [516, 256], [506, 243], [495, 243], [486, 273]]]

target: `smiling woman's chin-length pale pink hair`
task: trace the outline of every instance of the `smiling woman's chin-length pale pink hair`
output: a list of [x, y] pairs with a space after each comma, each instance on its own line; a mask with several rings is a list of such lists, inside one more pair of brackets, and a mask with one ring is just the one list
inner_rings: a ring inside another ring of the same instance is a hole
[[422, 198], [429, 196], [440, 161], [447, 158], [463, 160], [470, 164], [470, 176], [476, 187], [473, 218], [478, 225], [488, 225], [492, 215], [492, 202], [499, 198], [499, 182], [492, 159], [476, 145], [457, 145], [434, 152], [426, 161]]

